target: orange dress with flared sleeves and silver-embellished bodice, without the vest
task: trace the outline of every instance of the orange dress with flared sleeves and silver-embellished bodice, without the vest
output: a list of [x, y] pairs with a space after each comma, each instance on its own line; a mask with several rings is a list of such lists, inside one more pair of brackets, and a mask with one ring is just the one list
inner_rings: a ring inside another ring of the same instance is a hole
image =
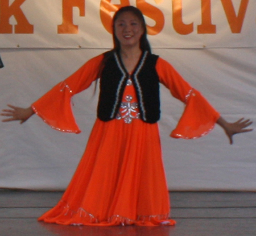
[[[70, 99], [96, 79], [102, 58], [94, 57], [33, 103], [35, 113], [57, 130], [79, 133]], [[171, 136], [197, 138], [211, 130], [219, 117], [217, 111], [166, 61], [159, 58], [156, 70], [173, 96], [186, 104]], [[49, 106], [52, 97], [54, 102]], [[158, 124], [139, 119], [135, 89], [128, 80], [117, 118], [108, 122], [96, 119], [71, 183], [59, 203], [39, 221], [63, 225], [175, 225], [169, 213]]]

